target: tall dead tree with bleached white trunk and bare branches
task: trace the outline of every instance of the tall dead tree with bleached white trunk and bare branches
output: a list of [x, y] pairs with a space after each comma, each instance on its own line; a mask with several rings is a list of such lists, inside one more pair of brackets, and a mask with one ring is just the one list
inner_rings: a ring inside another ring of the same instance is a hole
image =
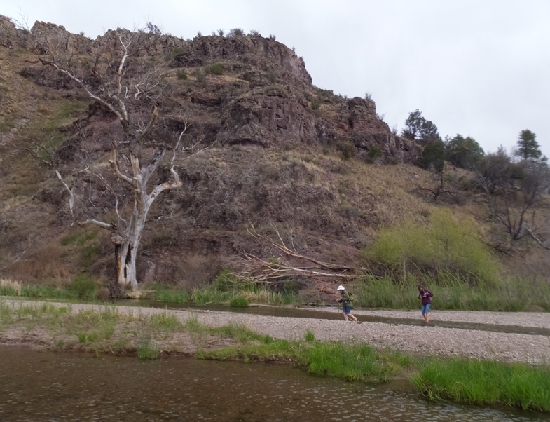
[[[163, 160], [166, 151], [166, 147], [159, 147], [156, 142], [150, 142], [149, 139], [153, 128], [156, 127], [159, 114], [158, 103], [163, 90], [160, 76], [164, 68], [151, 57], [135, 57], [135, 60], [130, 62], [132, 51], [137, 52], [142, 48], [132, 43], [139, 44], [139, 40], [144, 38], [118, 29], [111, 33], [114, 39], [104, 39], [103, 44], [91, 47], [95, 53], [90, 61], [90, 57], [78, 58], [78, 51], [69, 52], [63, 50], [63, 47], [60, 48], [62, 43], [52, 40], [51, 34], [42, 34], [33, 29], [30, 32], [34, 36], [34, 51], [40, 62], [66, 76], [91, 100], [101, 104], [116, 117], [121, 125], [121, 139], [112, 139], [111, 142], [109, 164], [116, 179], [130, 188], [132, 210], [130, 212], [128, 207], [119, 210], [117, 197], [114, 205], [118, 217], [116, 224], [98, 219], [86, 219], [79, 224], [94, 224], [111, 231], [116, 256], [116, 283], [111, 285], [111, 294], [118, 294], [121, 288], [137, 289], [137, 250], [149, 209], [160, 193], [181, 186], [181, 180], [174, 170], [174, 161], [178, 152], [195, 151], [198, 142], [187, 149], [181, 148], [182, 139], [188, 128], [188, 124], [184, 123], [184, 128], [173, 147], [170, 179], [161, 184], [151, 184], [151, 176]], [[78, 60], [74, 60], [75, 57]], [[83, 66], [83, 62], [88, 63], [88, 67]], [[154, 151], [146, 163], [142, 163], [142, 149], [145, 147]], [[73, 212], [74, 185], [69, 188], [59, 172], [57, 175], [69, 191], [69, 206]], [[129, 202], [131, 203], [131, 200]]]

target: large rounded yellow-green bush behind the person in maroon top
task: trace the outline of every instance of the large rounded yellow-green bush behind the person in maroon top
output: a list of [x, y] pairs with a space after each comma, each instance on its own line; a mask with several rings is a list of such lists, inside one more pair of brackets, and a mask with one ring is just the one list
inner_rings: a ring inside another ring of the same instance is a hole
[[462, 280], [497, 283], [497, 261], [481, 240], [472, 217], [457, 218], [451, 210], [436, 210], [427, 225], [406, 219], [382, 229], [366, 257], [390, 274], [454, 273]]

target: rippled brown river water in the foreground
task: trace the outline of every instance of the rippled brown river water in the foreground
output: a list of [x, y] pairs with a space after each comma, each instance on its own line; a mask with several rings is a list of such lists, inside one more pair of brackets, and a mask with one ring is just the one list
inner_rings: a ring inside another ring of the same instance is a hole
[[0, 421], [542, 421], [433, 403], [399, 386], [283, 365], [41, 353], [0, 346]]

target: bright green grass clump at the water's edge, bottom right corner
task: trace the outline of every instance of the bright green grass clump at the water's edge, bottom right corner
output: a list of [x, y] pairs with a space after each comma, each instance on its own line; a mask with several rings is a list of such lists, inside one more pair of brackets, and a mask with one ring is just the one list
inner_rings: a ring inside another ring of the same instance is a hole
[[550, 411], [550, 368], [486, 360], [429, 360], [412, 381], [432, 400]]

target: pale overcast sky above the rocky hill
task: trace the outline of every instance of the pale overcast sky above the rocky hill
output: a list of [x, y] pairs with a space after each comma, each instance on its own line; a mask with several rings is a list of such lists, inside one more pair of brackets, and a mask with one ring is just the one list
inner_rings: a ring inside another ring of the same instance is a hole
[[508, 150], [529, 129], [550, 156], [550, 0], [1, 0], [0, 14], [95, 38], [144, 27], [193, 38], [256, 29], [305, 60], [315, 86], [371, 93], [401, 130], [415, 109], [441, 137]]

